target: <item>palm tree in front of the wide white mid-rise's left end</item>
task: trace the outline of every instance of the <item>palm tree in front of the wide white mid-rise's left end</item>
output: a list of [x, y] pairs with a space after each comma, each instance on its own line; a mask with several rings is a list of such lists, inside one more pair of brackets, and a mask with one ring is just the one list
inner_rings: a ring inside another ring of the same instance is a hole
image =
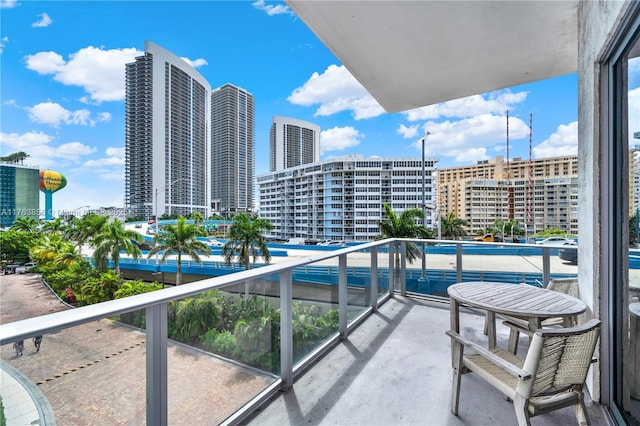
[[266, 219], [251, 218], [246, 213], [238, 213], [233, 218], [233, 223], [227, 232], [228, 241], [222, 247], [222, 255], [227, 264], [231, 265], [233, 258], [244, 263], [244, 268], [251, 268], [258, 256], [264, 259], [264, 263], [271, 262], [271, 253], [267, 248], [267, 241], [262, 234], [273, 229], [273, 225]]

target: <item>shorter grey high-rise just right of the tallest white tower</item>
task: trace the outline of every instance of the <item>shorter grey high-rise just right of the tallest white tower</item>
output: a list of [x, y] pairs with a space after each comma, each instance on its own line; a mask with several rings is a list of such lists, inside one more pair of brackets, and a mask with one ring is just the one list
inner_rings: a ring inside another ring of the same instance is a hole
[[211, 93], [211, 199], [224, 214], [253, 210], [255, 106], [232, 84]]

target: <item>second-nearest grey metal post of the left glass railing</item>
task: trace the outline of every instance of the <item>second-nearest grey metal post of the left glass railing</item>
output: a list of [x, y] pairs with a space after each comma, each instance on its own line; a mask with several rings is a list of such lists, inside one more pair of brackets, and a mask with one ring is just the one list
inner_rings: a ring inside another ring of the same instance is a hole
[[280, 376], [282, 388], [293, 385], [293, 289], [291, 269], [280, 272]]

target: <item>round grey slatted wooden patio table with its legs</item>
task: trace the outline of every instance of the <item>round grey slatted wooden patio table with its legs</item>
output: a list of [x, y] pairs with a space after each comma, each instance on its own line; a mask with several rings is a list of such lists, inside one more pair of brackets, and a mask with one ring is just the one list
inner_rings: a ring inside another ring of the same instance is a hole
[[447, 289], [451, 308], [451, 330], [460, 332], [460, 305], [487, 311], [489, 349], [496, 347], [496, 314], [528, 320], [529, 330], [535, 332], [547, 318], [571, 317], [587, 310], [580, 299], [557, 291], [527, 284], [508, 284], [486, 281], [457, 283]]

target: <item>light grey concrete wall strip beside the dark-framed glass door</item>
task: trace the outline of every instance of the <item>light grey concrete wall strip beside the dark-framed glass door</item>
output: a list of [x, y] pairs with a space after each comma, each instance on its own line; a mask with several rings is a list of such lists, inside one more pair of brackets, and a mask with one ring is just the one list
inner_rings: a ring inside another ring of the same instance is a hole
[[[607, 219], [600, 189], [603, 179], [606, 179], [600, 135], [600, 62], [628, 3], [578, 2], [578, 282], [581, 298], [589, 306], [591, 314], [597, 317], [602, 317], [604, 313], [601, 311], [600, 285], [607, 277], [603, 276], [601, 265], [606, 261], [603, 256], [608, 255], [601, 244], [601, 229], [604, 229], [603, 224]], [[603, 364], [599, 365], [606, 368]], [[588, 383], [596, 401], [601, 397], [600, 377], [600, 370], [594, 369]]]

